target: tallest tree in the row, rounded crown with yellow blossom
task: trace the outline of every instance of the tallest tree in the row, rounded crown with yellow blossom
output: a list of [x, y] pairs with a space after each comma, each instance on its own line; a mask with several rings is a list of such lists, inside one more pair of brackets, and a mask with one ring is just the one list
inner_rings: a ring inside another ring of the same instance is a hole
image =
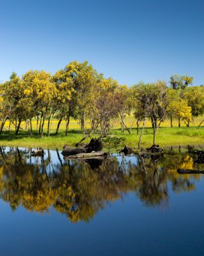
[[[66, 135], [70, 116], [81, 121], [83, 135], [85, 135], [86, 113], [93, 104], [95, 97], [93, 89], [97, 84], [98, 75], [88, 62], [70, 62], [64, 69], [57, 71], [53, 76], [58, 90], [58, 116], [60, 122], [66, 117]], [[58, 129], [56, 131], [58, 133]]]

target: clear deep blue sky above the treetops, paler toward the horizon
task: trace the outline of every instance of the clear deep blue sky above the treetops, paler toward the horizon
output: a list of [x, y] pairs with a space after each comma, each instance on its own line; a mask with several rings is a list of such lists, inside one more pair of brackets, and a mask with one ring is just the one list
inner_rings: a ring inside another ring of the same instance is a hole
[[0, 81], [89, 61], [120, 84], [204, 84], [203, 0], [0, 0]]

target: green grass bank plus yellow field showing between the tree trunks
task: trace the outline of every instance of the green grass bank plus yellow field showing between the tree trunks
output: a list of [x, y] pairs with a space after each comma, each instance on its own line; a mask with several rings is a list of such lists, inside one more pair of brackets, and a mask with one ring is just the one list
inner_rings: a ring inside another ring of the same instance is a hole
[[[171, 146], [171, 145], [187, 145], [187, 144], [203, 144], [204, 141], [204, 127], [197, 127], [196, 125], [201, 121], [202, 117], [198, 117], [195, 119], [195, 123], [191, 124], [191, 127], [185, 127], [185, 123], [182, 123], [182, 127], [172, 127], [170, 128], [170, 122], [166, 121], [162, 123], [162, 127], [158, 129], [158, 133], [156, 135], [156, 143], [160, 144], [160, 146]], [[125, 123], [128, 127], [132, 126], [134, 122], [133, 117], [127, 117], [125, 119]], [[64, 136], [65, 133], [65, 122], [62, 122], [60, 126], [60, 131], [56, 136], [55, 130], [58, 121], [52, 121], [52, 129], [50, 133], [50, 137], [46, 137], [46, 124], [44, 125], [44, 137], [41, 139], [38, 131], [36, 131], [36, 120], [32, 121], [33, 126], [33, 135], [30, 135], [28, 130], [25, 130], [25, 123], [22, 123], [21, 127], [23, 131], [19, 131], [19, 135], [15, 136], [14, 127], [11, 125], [11, 131], [3, 131], [0, 136], [0, 143], [3, 146], [24, 146], [24, 147], [44, 147], [44, 148], [59, 148], [61, 149], [64, 144], [74, 146], [81, 138], [81, 129], [79, 123], [74, 119], [70, 121], [70, 129], [68, 131], [68, 136]], [[174, 121], [177, 125], [177, 121]], [[9, 123], [6, 124], [6, 129], [8, 128]], [[194, 126], [193, 126], [194, 125]], [[166, 126], [166, 127], [165, 127]], [[121, 141], [121, 146], [128, 144], [130, 146], [137, 146], [139, 135], [136, 134], [136, 124], [133, 125], [132, 133], [129, 134], [125, 131], [125, 134], [121, 134], [121, 130], [119, 129], [119, 121], [114, 129], [111, 129], [109, 134], [115, 135], [117, 137], [121, 137], [119, 141]], [[86, 128], [89, 129], [90, 125], [87, 121]], [[140, 128], [141, 129], [141, 128]], [[140, 130], [141, 131], [141, 130]], [[93, 135], [93, 137], [98, 137], [98, 135]], [[142, 144], [141, 146], [151, 146], [152, 145], [152, 137], [153, 131], [151, 128], [150, 121], [148, 121], [145, 129], [144, 135], [142, 136]], [[89, 139], [87, 139], [89, 141]], [[86, 141], [85, 141], [86, 142]], [[108, 141], [110, 143], [110, 141]], [[109, 145], [107, 145], [109, 146]], [[118, 146], [119, 147], [119, 146]]]

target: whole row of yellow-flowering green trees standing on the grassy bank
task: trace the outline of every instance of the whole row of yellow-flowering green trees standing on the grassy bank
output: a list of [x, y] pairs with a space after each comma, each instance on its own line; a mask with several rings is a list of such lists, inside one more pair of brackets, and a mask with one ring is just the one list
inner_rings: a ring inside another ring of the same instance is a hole
[[[48, 120], [46, 133], [49, 136], [54, 118], [58, 120], [56, 135], [62, 121], [66, 121], [65, 134], [68, 135], [70, 117], [80, 121], [83, 137], [94, 131], [107, 135], [118, 117], [121, 132], [127, 129], [130, 133], [125, 116], [134, 113], [138, 132], [142, 126], [140, 139], [146, 120], [150, 119], [155, 143], [156, 132], [164, 120], [170, 119], [172, 126], [172, 119], [177, 119], [178, 127], [183, 120], [189, 126], [193, 117], [203, 115], [204, 88], [189, 86], [192, 83], [193, 77], [172, 75], [170, 86], [164, 81], [156, 81], [128, 87], [97, 73], [87, 61], [72, 61], [54, 75], [30, 70], [19, 77], [13, 72], [9, 81], [0, 84], [0, 134], [7, 120], [15, 126], [16, 135], [23, 121], [29, 123], [32, 133], [32, 119], [35, 118], [35, 129], [41, 137], [45, 120]], [[91, 124], [89, 131], [85, 131], [86, 119]]]

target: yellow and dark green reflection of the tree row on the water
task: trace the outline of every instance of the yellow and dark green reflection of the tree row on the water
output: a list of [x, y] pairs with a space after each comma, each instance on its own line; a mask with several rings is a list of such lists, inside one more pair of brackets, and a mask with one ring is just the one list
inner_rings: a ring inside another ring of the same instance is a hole
[[[0, 149], [0, 196], [13, 210], [19, 205], [29, 211], [48, 212], [50, 207], [70, 221], [89, 221], [107, 203], [121, 199], [128, 191], [145, 205], [168, 205], [168, 182], [176, 193], [194, 189], [199, 174], [180, 176], [177, 168], [195, 167], [187, 154], [166, 154], [162, 159], [132, 156], [104, 161], [32, 162], [30, 150]], [[132, 161], [133, 159], [133, 161]]]

